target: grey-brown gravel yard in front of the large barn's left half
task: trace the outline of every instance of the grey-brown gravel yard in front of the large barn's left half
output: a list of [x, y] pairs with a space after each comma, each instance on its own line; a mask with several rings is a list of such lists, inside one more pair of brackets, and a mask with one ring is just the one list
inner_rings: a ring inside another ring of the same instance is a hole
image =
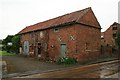
[[7, 63], [8, 73], [22, 73], [26, 71], [48, 71], [54, 69], [67, 68], [75, 65], [57, 65], [55, 63], [39, 61], [36, 58], [24, 56], [3, 56]]

